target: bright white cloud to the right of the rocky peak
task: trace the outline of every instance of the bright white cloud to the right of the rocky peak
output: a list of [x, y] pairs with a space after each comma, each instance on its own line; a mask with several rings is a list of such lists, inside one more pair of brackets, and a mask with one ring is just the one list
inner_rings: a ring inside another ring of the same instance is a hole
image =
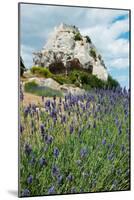
[[[108, 22], [112, 20], [112, 17], [109, 17]], [[96, 48], [102, 54], [107, 67], [120, 69], [128, 67], [129, 41], [119, 36], [128, 31], [128, 19], [118, 20], [110, 24], [102, 22], [102, 24], [81, 30], [84, 35], [91, 37]]]

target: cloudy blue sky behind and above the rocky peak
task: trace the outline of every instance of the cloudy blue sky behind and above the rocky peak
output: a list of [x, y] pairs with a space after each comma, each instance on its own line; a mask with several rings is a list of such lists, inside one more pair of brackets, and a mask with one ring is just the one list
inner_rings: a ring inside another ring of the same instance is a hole
[[89, 35], [109, 74], [129, 87], [129, 12], [127, 10], [21, 4], [21, 55], [26, 67], [45, 45], [53, 28], [64, 22]]

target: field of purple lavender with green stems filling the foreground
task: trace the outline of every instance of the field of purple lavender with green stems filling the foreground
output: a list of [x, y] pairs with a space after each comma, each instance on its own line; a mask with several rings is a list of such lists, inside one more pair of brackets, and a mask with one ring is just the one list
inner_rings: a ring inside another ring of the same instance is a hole
[[20, 102], [20, 196], [130, 189], [129, 91]]

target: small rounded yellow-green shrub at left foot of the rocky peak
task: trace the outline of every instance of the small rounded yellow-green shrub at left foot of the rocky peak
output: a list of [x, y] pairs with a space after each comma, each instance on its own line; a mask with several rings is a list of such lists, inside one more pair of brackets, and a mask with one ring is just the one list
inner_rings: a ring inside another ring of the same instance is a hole
[[48, 68], [43, 68], [43, 67], [37, 67], [37, 66], [33, 66], [30, 71], [33, 73], [33, 74], [36, 74], [38, 76], [42, 76], [42, 77], [45, 77], [45, 78], [49, 78], [52, 76], [52, 73], [49, 71]]

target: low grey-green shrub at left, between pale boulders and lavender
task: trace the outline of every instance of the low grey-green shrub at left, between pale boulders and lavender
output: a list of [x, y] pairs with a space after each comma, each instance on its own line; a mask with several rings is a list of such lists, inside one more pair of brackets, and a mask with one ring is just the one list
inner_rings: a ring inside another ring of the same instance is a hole
[[46, 86], [39, 86], [37, 83], [34, 81], [28, 82], [24, 86], [25, 92], [35, 94], [38, 96], [44, 96], [44, 97], [61, 97], [62, 92], [58, 90], [54, 90], [52, 88], [46, 87]]

